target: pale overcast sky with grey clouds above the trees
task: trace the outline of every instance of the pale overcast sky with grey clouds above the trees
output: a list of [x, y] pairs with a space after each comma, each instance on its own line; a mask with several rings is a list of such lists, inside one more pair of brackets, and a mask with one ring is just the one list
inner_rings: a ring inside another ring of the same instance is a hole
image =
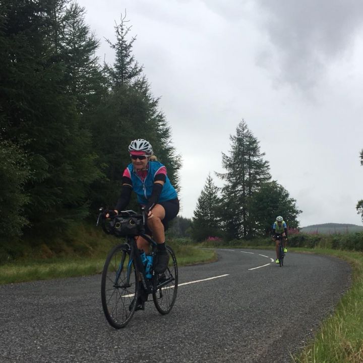
[[242, 118], [270, 172], [296, 199], [300, 226], [362, 225], [361, 0], [78, 0], [104, 38], [127, 12], [134, 54], [183, 159], [181, 211], [192, 217]]

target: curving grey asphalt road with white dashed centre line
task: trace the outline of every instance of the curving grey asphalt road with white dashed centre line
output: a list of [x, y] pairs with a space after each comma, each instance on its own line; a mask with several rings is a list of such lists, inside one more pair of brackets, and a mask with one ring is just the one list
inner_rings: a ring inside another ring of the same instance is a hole
[[287, 253], [280, 268], [273, 251], [218, 256], [179, 268], [179, 284], [226, 276], [179, 286], [170, 314], [151, 301], [120, 330], [100, 275], [0, 286], [0, 362], [291, 362], [350, 284], [331, 257]]

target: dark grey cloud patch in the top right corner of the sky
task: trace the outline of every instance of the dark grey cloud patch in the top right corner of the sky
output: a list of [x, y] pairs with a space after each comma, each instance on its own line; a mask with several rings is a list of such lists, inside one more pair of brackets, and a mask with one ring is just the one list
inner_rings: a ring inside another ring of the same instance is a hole
[[[360, 0], [257, 1], [275, 48], [278, 80], [304, 89], [314, 86], [325, 66], [349, 48], [363, 24]], [[264, 52], [256, 63], [270, 68], [262, 60]]]

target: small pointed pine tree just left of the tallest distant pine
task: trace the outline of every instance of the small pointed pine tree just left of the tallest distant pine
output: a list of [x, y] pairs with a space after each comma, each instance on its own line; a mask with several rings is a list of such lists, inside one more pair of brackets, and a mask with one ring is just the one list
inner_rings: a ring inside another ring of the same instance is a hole
[[196, 240], [203, 240], [208, 236], [220, 236], [219, 205], [218, 188], [208, 174], [194, 211], [193, 237]]

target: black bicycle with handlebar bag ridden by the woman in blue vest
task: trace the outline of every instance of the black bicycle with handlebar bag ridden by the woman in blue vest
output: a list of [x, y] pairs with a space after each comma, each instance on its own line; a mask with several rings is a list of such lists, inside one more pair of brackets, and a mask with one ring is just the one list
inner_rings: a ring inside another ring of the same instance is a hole
[[[171, 247], [166, 246], [169, 254], [166, 271], [156, 273], [153, 261], [157, 256], [157, 244], [145, 234], [145, 212], [137, 214], [127, 210], [110, 218], [104, 217], [103, 208], [99, 212], [97, 225], [101, 221], [107, 234], [126, 239], [125, 244], [115, 246], [108, 253], [102, 271], [101, 301], [108, 323], [120, 329], [130, 322], [137, 307], [141, 286], [146, 293], [152, 294], [157, 311], [162, 315], [168, 314], [174, 305], [178, 286], [176, 257]], [[149, 255], [137, 248], [135, 238], [139, 235], [149, 242]]]

